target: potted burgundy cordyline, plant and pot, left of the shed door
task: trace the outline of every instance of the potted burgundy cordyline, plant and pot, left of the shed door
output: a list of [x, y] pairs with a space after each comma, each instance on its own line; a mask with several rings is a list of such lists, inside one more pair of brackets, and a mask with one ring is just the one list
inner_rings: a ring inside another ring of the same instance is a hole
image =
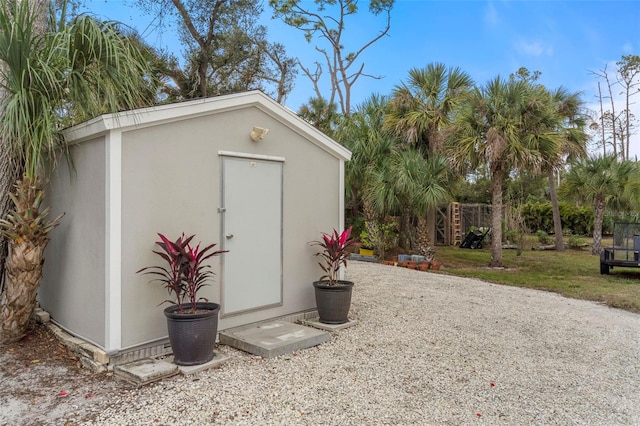
[[214, 251], [215, 244], [200, 248], [191, 246], [195, 237], [185, 237], [184, 233], [175, 241], [158, 234], [161, 241], [156, 244], [162, 249], [153, 251], [165, 262], [164, 266], [149, 266], [138, 273], [149, 274], [152, 282], [161, 283], [175, 300], [164, 310], [167, 318], [169, 341], [174, 362], [178, 365], [198, 365], [213, 359], [213, 348], [218, 334], [218, 313], [220, 305], [198, 297], [198, 291], [208, 285], [213, 278], [211, 265], [204, 262], [224, 250]]

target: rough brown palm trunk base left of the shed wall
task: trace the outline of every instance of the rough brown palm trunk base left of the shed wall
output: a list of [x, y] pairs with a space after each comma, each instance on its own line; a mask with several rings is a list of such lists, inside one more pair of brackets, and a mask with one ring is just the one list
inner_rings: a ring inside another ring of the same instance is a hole
[[46, 244], [29, 241], [9, 244], [7, 283], [0, 298], [0, 342], [11, 343], [26, 334], [29, 320], [36, 307], [36, 296]]

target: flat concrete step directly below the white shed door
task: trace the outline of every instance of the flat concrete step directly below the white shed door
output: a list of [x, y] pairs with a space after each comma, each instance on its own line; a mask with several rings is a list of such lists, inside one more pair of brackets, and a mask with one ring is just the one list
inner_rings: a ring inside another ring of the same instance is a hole
[[286, 321], [269, 321], [221, 331], [220, 343], [264, 358], [328, 342], [330, 334]]

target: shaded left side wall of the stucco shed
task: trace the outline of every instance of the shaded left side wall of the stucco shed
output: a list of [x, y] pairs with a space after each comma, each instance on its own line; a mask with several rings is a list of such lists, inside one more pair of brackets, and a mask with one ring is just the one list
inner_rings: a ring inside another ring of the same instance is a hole
[[38, 300], [63, 328], [104, 347], [106, 186], [105, 138], [70, 148], [51, 177], [51, 217], [65, 213], [45, 252]]

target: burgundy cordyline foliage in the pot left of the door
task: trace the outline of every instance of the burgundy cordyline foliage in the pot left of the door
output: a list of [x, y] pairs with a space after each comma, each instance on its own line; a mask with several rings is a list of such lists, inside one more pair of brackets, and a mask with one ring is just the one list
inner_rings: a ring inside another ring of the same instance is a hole
[[[203, 262], [213, 256], [226, 253], [228, 250], [212, 251], [215, 244], [208, 245], [200, 249], [200, 244], [191, 247], [191, 240], [195, 235], [185, 237], [184, 233], [177, 240], [171, 241], [162, 234], [158, 234], [161, 241], [156, 244], [162, 251], [153, 252], [167, 262], [167, 266], [149, 266], [142, 268], [138, 273], [156, 276], [152, 281], [162, 283], [169, 295], [175, 295], [173, 300], [165, 300], [162, 303], [175, 303], [178, 305], [178, 312], [196, 312], [197, 303], [200, 300], [208, 301], [204, 297], [198, 297], [198, 291], [207, 286], [207, 281], [213, 278], [211, 265], [205, 265]], [[188, 300], [185, 300], [188, 299]], [[189, 309], [183, 308], [184, 303], [190, 304]]]

